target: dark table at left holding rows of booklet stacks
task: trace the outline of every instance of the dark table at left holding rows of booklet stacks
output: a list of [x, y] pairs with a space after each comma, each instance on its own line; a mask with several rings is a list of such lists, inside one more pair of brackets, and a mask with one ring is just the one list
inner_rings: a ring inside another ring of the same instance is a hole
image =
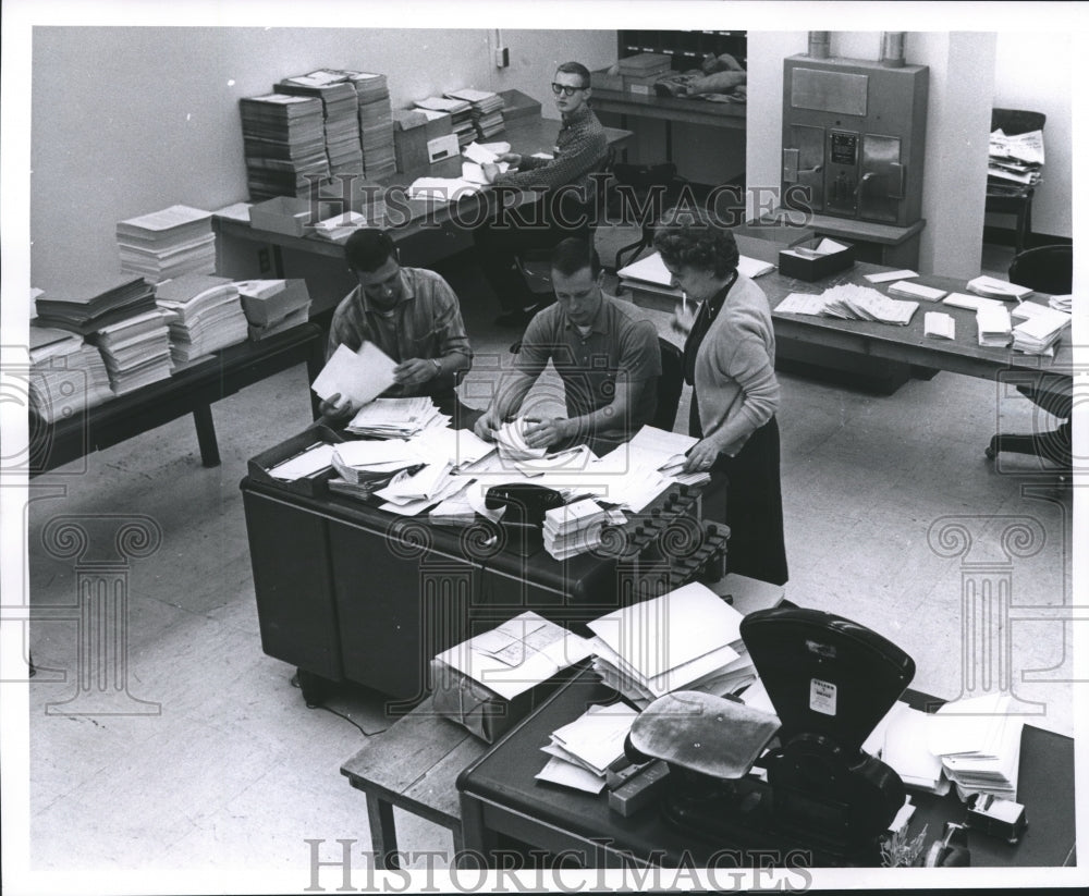
[[230, 345], [169, 379], [110, 398], [52, 425], [32, 415], [29, 475], [38, 476], [186, 414], [192, 414], [196, 421], [201, 463], [206, 467], [218, 466], [211, 405], [303, 361], [307, 366], [308, 388], [325, 364], [325, 344], [317, 324], [304, 323], [260, 342]]

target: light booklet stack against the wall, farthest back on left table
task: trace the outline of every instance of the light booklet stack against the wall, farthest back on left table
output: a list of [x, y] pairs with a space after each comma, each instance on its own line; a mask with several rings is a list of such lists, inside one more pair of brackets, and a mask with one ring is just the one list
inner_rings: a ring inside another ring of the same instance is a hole
[[152, 283], [216, 270], [210, 211], [171, 206], [121, 221], [117, 235], [121, 270], [138, 273]]

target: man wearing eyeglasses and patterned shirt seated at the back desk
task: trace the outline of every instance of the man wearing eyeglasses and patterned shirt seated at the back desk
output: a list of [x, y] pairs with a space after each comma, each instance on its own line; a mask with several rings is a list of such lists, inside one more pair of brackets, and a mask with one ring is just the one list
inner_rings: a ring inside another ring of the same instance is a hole
[[578, 62], [564, 62], [552, 78], [552, 96], [562, 126], [551, 159], [509, 152], [500, 161], [511, 168], [486, 164], [485, 176], [497, 186], [543, 193], [536, 206], [501, 210], [476, 231], [485, 274], [503, 314], [497, 323], [522, 326], [539, 310], [517, 272], [515, 257], [535, 248], [551, 248], [565, 236], [589, 233], [594, 181], [608, 150], [604, 128], [588, 106], [590, 72]]

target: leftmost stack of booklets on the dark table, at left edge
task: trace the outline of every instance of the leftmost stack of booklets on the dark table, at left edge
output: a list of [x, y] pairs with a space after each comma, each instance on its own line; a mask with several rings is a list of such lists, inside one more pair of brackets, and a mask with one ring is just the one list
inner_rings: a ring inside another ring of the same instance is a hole
[[102, 356], [82, 336], [30, 326], [30, 409], [47, 424], [112, 398]]

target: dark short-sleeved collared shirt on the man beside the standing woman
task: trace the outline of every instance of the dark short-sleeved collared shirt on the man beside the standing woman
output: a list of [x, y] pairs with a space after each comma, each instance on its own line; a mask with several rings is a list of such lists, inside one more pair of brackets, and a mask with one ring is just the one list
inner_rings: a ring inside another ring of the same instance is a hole
[[602, 294], [585, 336], [559, 303], [538, 314], [526, 328], [515, 367], [539, 377], [550, 360], [563, 380], [568, 417], [611, 404], [617, 382], [635, 388], [631, 419], [616, 420], [596, 434], [627, 439], [653, 420], [662, 372], [658, 331], [649, 320], [636, 317], [626, 303]]

